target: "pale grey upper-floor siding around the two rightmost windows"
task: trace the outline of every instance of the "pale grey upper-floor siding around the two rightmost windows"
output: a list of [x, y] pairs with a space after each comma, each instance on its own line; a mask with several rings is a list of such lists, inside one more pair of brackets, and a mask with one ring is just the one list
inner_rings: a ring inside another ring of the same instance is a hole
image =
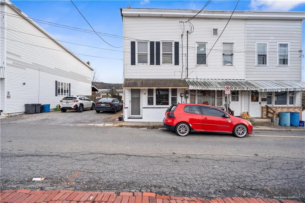
[[[247, 80], [301, 80], [301, 21], [246, 20], [246, 52], [255, 41], [268, 41], [268, 67], [255, 66], [255, 53], [246, 53]], [[277, 67], [277, 41], [290, 42], [290, 67]]]

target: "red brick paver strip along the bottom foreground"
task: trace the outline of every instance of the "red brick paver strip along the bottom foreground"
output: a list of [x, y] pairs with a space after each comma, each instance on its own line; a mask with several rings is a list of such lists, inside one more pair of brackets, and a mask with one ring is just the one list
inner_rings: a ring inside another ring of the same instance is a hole
[[216, 198], [213, 200], [189, 197], [156, 195], [152, 192], [84, 192], [70, 190], [30, 191], [4, 190], [0, 193], [1, 202], [49, 202], [49, 203], [299, 203], [293, 200], [275, 200], [267, 198]]

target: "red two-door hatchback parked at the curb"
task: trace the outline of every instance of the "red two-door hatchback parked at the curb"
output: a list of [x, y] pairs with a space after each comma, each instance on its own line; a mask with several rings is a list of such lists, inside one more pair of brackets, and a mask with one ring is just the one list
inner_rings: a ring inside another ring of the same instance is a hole
[[245, 119], [202, 104], [171, 105], [165, 112], [163, 125], [179, 136], [187, 136], [190, 132], [217, 132], [244, 137], [253, 129], [253, 125]]

